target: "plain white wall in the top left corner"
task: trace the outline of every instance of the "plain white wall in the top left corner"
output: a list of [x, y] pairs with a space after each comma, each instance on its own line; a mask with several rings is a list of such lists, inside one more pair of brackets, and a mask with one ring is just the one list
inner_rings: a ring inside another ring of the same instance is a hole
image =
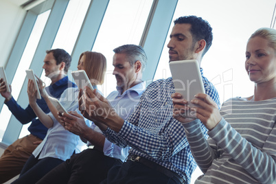
[[0, 0], [0, 66], [6, 65], [26, 11], [10, 0]]

